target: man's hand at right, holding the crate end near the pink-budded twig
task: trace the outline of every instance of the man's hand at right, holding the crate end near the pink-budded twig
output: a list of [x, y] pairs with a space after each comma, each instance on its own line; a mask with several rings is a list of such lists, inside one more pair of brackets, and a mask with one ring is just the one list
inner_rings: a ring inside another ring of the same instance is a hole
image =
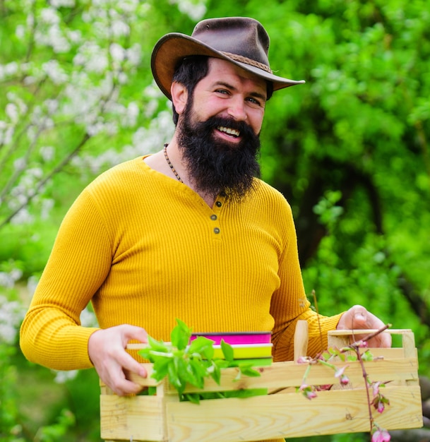
[[[353, 306], [340, 316], [337, 330], [350, 329], [375, 329], [382, 328], [385, 324], [374, 314], [367, 311], [363, 306]], [[363, 335], [354, 336], [353, 340], [364, 338]], [[369, 347], [391, 347], [391, 335], [388, 333], [379, 333], [375, 338], [368, 341]]]

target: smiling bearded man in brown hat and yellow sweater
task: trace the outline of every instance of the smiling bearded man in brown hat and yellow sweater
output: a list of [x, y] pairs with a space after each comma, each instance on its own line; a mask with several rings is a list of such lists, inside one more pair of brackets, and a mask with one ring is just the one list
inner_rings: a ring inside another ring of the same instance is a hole
[[[176, 318], [196, 333], [270, 330], [274, 361], [292, 359], [300, 319], [310, 355], [328, 330], [383, 325], [362, 306], [332, 317], [310, 309], [291, 209], [258, 178], [265, 105], [304, 83], [275, 76], [268, 47], [261, 23], [241, 17], [157, 42], [153, 75], [172, 100], [174, 136], [104, 172], [73, 203], [21, 328], [28, 359], [95, 367], [124, 395], [140, 389], [125, 369], [146, 376], [127, 342], [169, 340]], [[89, 302], [100, 328], [80, 325]]]

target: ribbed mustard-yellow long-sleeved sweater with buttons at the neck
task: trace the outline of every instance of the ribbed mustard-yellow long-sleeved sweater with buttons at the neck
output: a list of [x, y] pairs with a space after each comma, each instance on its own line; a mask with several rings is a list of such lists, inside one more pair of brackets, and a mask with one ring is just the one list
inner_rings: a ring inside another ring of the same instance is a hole
[[[305, 318], [309, 354], [321, 350], [289, 205], [263, 181], [255, 189], [210, 208], [142, 157], [100, 175], [59, 229], [21, 328], [25, 356], [52, 369], [91, 367], [97, 329], [79, 319], [90, 301], [101, 328], [129, 323], [163, 340], [175, 318], [195, 332], [273, 330], [275, 361], [292, 359], [295, 322]], [[338, 318], [321, 317], [323, 332]]]

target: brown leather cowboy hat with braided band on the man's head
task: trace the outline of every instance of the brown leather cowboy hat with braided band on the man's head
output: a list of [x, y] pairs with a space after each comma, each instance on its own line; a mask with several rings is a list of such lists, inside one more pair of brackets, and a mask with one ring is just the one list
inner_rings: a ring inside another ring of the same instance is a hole
[[253, 18], [208, 18], [197, 23], [191, 37], [178, 32], [161, 37], [153, 49], [151, 69], [157, 85], [172, 100], [174, 70], [186, 56], [206, 55], [231, 61], [245, 71], [273, 83], [273, 90], [304, 83], [275, 76], [268, 60], [270, 39]]

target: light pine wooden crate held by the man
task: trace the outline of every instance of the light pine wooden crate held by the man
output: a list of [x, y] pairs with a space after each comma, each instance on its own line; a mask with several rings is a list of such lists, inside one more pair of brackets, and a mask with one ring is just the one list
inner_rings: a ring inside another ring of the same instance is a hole
[[[390, 330], [390, 333], [402, 336], [402, 347], [371, 349], [374, 356], [383, 359], [364, 362], [371, 381], [390, 381], [381, 390], [390, 405], [382, 414], [372, 407], [374, 417], [388, 430], [419, 428], [422, 404], [414, 335], [411, 330]], [[343, 347], [345, 334], [330, 332], [329, 347]], [[303, 340], [301, 347], [306, 348]], [[345, 365], [344, 362], [335, 364]], [[179, 402], [176, 390], [166, 381], [157, 385], [150, 378], [152, 364], [145, 364], [148, 378], [130, 378], [142, 386], [157, 386], [157, 395], [119, 397], [102, 385], [101, 437], [106, 441], [244, 442], [369, 431], [362, 367], [359, 362], [347, 364], [345, 374], [350, 383], [343, 388], [335, 385], [331, 390], [320, 391], [312, 400], [296, 391], [302, 383], [306, 364], [277, 362], [260, 367], [261, 377], [243, 376], [240, 381], [234, 381], [236, 369], [225, 369], [221, 385], [208, 380], [205, 391], [268, 388], [269, 394], [202, 400], [200, 405]], [[338, 381], [333, 369], [318, 364], [311, 367], [306, 383], [319, 386]], [[189, 388], [188, 391], [198, 390]]]

